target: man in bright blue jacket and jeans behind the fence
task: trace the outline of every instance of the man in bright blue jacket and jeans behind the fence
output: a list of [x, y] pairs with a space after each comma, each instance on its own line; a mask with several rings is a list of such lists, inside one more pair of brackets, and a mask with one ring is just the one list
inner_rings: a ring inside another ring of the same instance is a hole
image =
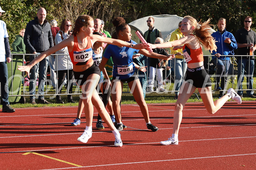
[[[236, 39], [234, 35], [226, 31], [226, 19], [220, 18], [218, 21], [218, 30], [212, 34], [215, 38], [217, 51], [213, 51], [212, 57], [213, 64], [217, 67], [216, 81], [217, 85], [215, 90], [225, 90], [227, 84], [227, 76], [230, 64], [230, 57], [225, 55], [234, 55], [234, 50], [237, 49]], [[223, 56], [222, 56], [223, 55]], [[220, 83], [221, 80], [221, 83]], [[224, 91], [220, 91], [219, 98], [224, 95]]]

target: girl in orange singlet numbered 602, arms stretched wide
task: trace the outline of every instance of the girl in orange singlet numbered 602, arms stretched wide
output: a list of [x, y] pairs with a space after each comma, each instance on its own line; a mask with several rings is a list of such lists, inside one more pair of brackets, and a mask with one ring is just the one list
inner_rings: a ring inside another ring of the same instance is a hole
[[22, 72], [26, 71], [29, 75], [30, 69], [34, 66], [34, 64], [67, 46], [70, 59], [73, 62], [74, 76], [82, 90], [82, 101], [85, 105], [84, 111], [86, 117], [86, 129], [84, 133], [78, 138], [78, 141], [86, 143], [92, 136], [92, 117], [94, 105], [98, 110], [101, 118], [105, 120], [105, 123], [113, 132], [116, 138], [114, 145], [116, 147], [121, 147], [123, 145], [121, 135], [114, 127], [112, 120], [96, 91], [96, 86], [98, 84], [98, 81], [100, 80], [100, 69], [95, 66], [92, 60], [92, 46], [96, 41], [105, 42], [113, 45], [132, 47], [134, 49], [146, 49], [149, 47], [149, 45], [131, 45], [129, 42], [125, 42], [122, 40], [105, 38], [99, 35], [92, 35], [94, 30], [94, 20], [90, 16], [79, 16], [76, 19], [73, 34], [68, 39], [41, 53], [32, 62], [30, 62], [28, 66], [21, 66], [18, 69]]

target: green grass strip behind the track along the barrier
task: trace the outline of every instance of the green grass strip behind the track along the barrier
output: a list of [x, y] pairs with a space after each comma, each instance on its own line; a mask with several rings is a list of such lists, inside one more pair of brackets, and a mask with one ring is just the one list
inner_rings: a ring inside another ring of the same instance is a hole
[[[246, 79], [244, 80], [244, 82], [246, 82]], [[166, 89], [168, 90], [172, 90], [174, 86], [174, 83], [168, 83], [166, 86]], [[232, 87], [232, 84], [229, 82], [228, 84], [228, 89]], [[236, 88], [236, 80], [235, 80], [235, 84], [233, 84], [233, 88]], [[23, 86], [21, 87], [22, 91], [23, 91]], [[246, 85], [243, 85], [243, 89], [247, 89]], [[256, 89], [256, 86], [254, 85], [254, 89]], [[64, 87], [63, 87], [63, 92], [64, 92]], [[214, 85], [212, 85], [212, 90], [214, 90]], [[28, 87], [26, 87], [26, 91], [28, 90]], [[74, 86], [73, 87], [73, 92], [77, 92], [78, 93], [78, 87]], [[80, 91], [81, 92], [81, 91]], [[134, 101], [134, 97], [132, 94], [127, 93], [127, 84], [124, 84], [123, 87], [123, 95], [122, 95], [122, 104], [135, 104], [136, 102]], [[54, 94], [55, 91], [51, 88], [51, 86], [48, 86], [47, 89], [47, 94]], [[197, 98], [196, 95], [192, 95], [188, 102], [202, 102], [202, 99], [198, 93], [198, 90], [195, 91], [195, 93], [198, 94], [199, 100]], [[21, 93], [23, 94], [23, 92]], [[25, 93], [28, 94], [28, 93]], [[246, 97], [246, 92], [244, 91], [244, 98], [242, 98], [242, 101], [254, 101], [256, 100], [255, 98], [249, 98]], [[146, 97], [145, 97], [145, 101], [146, 103], [175, 103], [176, 100], [174, 100], [174, 92], [152, 92], [152, 93], [147, 93]], [[46, 98], [46, 100], [48, 102], [52, 102], [52, 104], [30, 104], [30, 99], [28, 96], [26, 96], [26, 103], [22, 104], [22, 103], [11, 103], [11, 106], [14, 108], [26, 108], [26, 107], [65, 107], [65, 106], [78, 106], [78, 101], [79, 101], [79, 95], [73, 95], [73, 99], [74, 101], [76, 101], [76, 103], [66, 103], [67, 102], [67, 96], [61, 96], [62, 100], [64, 101], [64, 104], [57, 104], [55, 103], [55, 97], [51, 98], [52, 96], [44, 96]], [[213, 91], [213, 100], [217, 100], [219, 97], [219, 92], [218, 91]], [[37, 100], [36, 100], [37, 102]]]

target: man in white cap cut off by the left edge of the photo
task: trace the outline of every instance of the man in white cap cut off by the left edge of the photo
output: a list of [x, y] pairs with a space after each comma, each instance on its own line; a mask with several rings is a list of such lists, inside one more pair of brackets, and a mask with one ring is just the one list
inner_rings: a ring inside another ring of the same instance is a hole
[[[0, 7], [0, 16], [5, 12]], [[11, 51], [9, 44], [9, 35], [6, 29], [6, 23], [0, 20], [0, 83], [1, 83], [1, 98], [2, 112], [15, 112], [9, 103], [9, 87], [8, 87], [8, 69], [6, 62], [10, 63]]]

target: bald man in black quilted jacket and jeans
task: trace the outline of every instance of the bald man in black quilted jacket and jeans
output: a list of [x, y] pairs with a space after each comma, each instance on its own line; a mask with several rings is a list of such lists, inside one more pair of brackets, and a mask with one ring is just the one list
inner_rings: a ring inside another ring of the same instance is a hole
[[[50, 24], [45, 19], [46, 10], [44, 8], [39, 8], [37, 11], [37, 17], [32, 21], [28, 22], [24, 35], [24, 44], [27, 49], [32, 54], [40, 54], [50, 47], [53, 47], [53, 37], [50, 30]], [[30, 56], [30, 61], [32, 61], [37, 55]], [[30, 95], [36, 94], [36, 79], [39, 71], [39, 81], [38, 81], [38, 103], [48, 104], [44, 99], [44, 84], [46, 81], [46, 69], [48, 67], [48, 57], [37, 63], [30, 70]], [[30, 96], [30, 103], [36, 104], [35, 96]]]

